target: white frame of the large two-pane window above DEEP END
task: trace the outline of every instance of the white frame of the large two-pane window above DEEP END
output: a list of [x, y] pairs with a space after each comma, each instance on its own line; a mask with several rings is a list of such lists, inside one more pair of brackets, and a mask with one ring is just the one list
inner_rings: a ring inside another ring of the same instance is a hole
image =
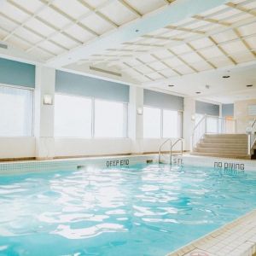
[[[82, 138], [82, 139], [125, 139], [128, 138], [128, 108], [129, 108], [129, 102], [118, 102], [118, 101], [111, 101], [111, 100], [105, 100], [102, 98], [97, 98], [97, 97], [92, 97], [92, 96], [81, 96], [81, 95], [77, 95], [77, 94], [68, 94], [68, 93], [62, 93], [62, 92], [55, 92], [55, 95], [62, 95], [62, 96], [76, 96], [76, 97], [82, 97], [82, 98], [86, 98], [86, 99], [90, 99], [91, 101], [91, 119], [90, 119], [90, 125], [91, 125], [91, 132], [90, 132], [90, 137], [56, 137], [56, 138]], [[124, 134], [123, 137], [95, 137], [95, 103], [96, 100], [99, 101], [103, 101], [103, 102], [114, 102], [114, 103], [120, 103], [123, 104], [123, 109], [124, 109]]]

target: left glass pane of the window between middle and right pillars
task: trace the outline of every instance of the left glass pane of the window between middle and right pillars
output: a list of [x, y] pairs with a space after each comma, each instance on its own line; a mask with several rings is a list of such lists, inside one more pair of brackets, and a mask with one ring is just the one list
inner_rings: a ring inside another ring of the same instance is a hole
[[143, 108], [144, 137], [161, 136], [161, 110], [159, 108]]

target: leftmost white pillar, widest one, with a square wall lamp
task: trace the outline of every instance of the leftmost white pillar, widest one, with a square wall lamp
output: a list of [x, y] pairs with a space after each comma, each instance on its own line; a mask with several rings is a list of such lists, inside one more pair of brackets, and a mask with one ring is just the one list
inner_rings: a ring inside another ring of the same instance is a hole
[[44, 96], [55, 96], [55, 69], [36, 67], [35, 88], [35, 137], [36, 158], [52, 159], [55, 156], [54, 104], [44, 105]]

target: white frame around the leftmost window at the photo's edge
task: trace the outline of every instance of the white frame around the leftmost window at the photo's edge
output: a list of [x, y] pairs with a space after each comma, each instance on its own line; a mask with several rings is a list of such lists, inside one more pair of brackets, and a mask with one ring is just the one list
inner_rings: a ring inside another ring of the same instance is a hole
[[30, 137], [35, 137], [35, 131], [34, 131], [34, 128], [35, 128], [35, 88], [32, 88], [32, 87], [27, 87], [27, 86], [20, 86], [20, 85], [15, 85], [15, 84], [3, 84], [3, 83], [0, 83], [0, 87], [8, 87], [8, 88], [13, 88], [13, 89], [19, 89], [19, 90], [30, 90], [32, 91], [32, 123], [31, 123], [31, 135], [30, 136], [27, 136], [27, 135], [24, 135], [24, 136], [15, 136], [15, 135], [12, 135], [12, 136], [1, 136], [0, 135], [0, 138], [30, 138]]

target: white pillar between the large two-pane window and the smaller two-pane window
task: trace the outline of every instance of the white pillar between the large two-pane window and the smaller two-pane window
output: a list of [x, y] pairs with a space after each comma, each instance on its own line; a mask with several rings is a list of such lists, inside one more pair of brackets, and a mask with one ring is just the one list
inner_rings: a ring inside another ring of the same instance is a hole
[[128, 135], [131, 154], [143, 153], [143, 113], [138, 113], [138, 109], [143, 111], [143, 88], [130, 86]]

